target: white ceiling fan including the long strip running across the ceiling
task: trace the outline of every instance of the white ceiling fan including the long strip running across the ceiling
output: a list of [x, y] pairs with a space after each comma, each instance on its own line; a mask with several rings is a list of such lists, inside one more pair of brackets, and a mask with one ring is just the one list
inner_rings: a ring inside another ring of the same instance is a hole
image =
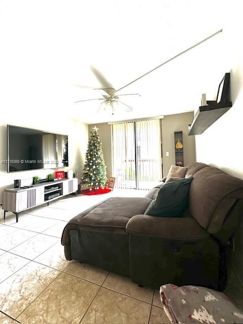
[[[222, 29], [216, 31], [215, 33], [211, 34], [210, 36], [204, 38], [202, 41], [194, 44], [193, 46], [189, 47], [188, 49], [180, 52], [179, 54], [173, 56], [172, 58], [170, 58], [169, 60], [161, 63], [160, 65], [156, 66], [155, 68], [153, 68], [152, 70], [144, 73], [143, 75], [137, 77], [135, 80], [133, 80], [132, 82], [128, 83], [127, 85], [125, 85], [124, 87], [121, 87], [117, 90], [115, 90], [112, 85], [106, 80], [106, 78], [104, 77], [104, 75], [98, 71], [96, 68], [94, 68], [93, 66], [91, 66], [91, 69], [93, 71], [93, 73], [95, 74], [95, 76], [97, 77], [97, 79], [99, 80], [99, 82], [101, 83], [102, 85], [102, 88], [99, 88], [99, 89], [94, 89], [94, 90], [102, 90], [104, 92], [104, 94], [101, 94], [102, 95], [102, 98], [95, 98], [95, 99], [85, 99], [85, 100], [78, 100], [78, 101], [75, 101], [74, 103], [78, 103], [78, 102], [85, 102], [85, 101], [91, 101], [91, 100], [98, 100], [98, 101], [101, 101], [101, 105], [99, 106], [97, 112], [103, 108], [103, 110], [107, 110], [107, 109], [111, 109], [111, 112], [112, 112], [112, 115], [114, 114], [114, 110], [115, 110], [115, 106], [118, 104], [118, 103], [121, 103], [123, 105], [123, 107], [125, 108], [125, 110], [127, 112], [131, 112], [133, 110], [132, 107], [128, 106], [126, 103], [124, 103], [123, 101], [120, 100], [120, 97], [121, 96], [140, 96], [138, 93], [130, 93], [130, 94], [117, 94], [117, 92], [119, 92], [121, 89], [124, 89], [128, 86], [130, 86], [131, 84], [133, 84], [134, 82], [136, 82], [137, 80], [141, 79], [142, 77], [144, 77], [145, 75], [153, 72], [154, 70], [156, 70], [157, 68], [161, 67], [162, 65], [174, 60], [175, 58], [179, 57], [180, 55], [186, 53], [187, 51], [195, 48], [196, 46], [208, 41], [208, 39], [210, 39], [211, 37], [213, 36], [216, 36], [217, 34], [219, 34], [220, 32], [222, 32]], [[86, 89], [91, 89], [90, 87], [87, 87], [87, 86], [81, 86], [81, 85], [75, 85], [79, 88], [86, 88]], [[141, 97], [141, 96], [140, 96]]]

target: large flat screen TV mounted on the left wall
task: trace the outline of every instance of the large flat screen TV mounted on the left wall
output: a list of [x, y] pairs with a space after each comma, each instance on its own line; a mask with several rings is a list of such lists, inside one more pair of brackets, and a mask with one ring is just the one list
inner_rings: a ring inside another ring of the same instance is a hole
[[8, 172], [68, 167], [68, 136], [8, 125]]

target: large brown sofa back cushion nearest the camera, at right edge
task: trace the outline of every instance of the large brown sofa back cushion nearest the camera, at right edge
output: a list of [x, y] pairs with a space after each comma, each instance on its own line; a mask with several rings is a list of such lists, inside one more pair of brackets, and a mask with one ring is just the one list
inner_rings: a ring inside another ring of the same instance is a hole
[[210, 233], [217, 233], [236, 199], [243, 197], [243, 180], [206, 166], [194, 174], [189, 212]]

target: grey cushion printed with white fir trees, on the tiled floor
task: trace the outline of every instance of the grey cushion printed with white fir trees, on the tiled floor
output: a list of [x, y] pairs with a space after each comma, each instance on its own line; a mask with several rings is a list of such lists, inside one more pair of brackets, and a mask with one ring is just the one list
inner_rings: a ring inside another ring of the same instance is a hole
[[170, 321], [175, 323], [242, 323], [243, 313], [223, 293], [205, 287], [167, 284], [160, 299]]

